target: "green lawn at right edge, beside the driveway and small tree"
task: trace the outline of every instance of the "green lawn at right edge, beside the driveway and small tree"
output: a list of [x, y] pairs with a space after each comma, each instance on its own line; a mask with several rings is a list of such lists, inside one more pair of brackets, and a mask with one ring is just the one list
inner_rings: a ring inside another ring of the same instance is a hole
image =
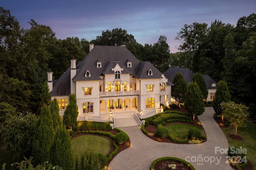
[[246, 121], [246, 127], [238, 127], [237, 135], [243, 137], [243, 141], [237, 141], [228, 137], [233, 133], [233, 126], [231, 127], [222, 127], [222, 131], [226, 135], [228, 139], [228, 147], [242, 147], [247, 149], [246, 157], [250, 160], [254, 166], [254, 170], [256, 170], [256, 125], [254, 123], [250, 123]]

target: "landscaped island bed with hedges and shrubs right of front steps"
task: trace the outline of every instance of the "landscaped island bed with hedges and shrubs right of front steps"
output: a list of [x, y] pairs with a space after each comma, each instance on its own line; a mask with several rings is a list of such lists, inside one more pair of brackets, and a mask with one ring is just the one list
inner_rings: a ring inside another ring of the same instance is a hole
[[[197, 118], [192, 121], [190, 115], [184, 108], [180, 110], [185, 112], [165, 111], [164, 113], [160, 113], [158, 115], [144, 119], [145, 126], [142, 125], [142, 132], [149, 138], [158, 142], [182, 144], [205, 142], [206, 133], [200, 121]], [[160, 126], [165, 127], [162, 128], [162, 130], [168, 131], [167, 135], [160, 137], [157, 134], [157, 129]], [[193, 138], [190, 140], [188, 131], [193, 127], [196, 127], [196, 129], [198, 129], [201, 134], [200, 136], [196, 137], [196, 139]]]

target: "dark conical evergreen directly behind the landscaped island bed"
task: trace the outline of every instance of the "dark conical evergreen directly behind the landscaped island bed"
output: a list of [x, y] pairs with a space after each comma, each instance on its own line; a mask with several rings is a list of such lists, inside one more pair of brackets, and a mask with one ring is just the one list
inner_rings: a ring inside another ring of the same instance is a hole
[[198, 116], [204, 113], [204, 100], [202, 98], [202, 92], [196, 82], [191, 81], [188, 84], [184, 106], [191, 116]]

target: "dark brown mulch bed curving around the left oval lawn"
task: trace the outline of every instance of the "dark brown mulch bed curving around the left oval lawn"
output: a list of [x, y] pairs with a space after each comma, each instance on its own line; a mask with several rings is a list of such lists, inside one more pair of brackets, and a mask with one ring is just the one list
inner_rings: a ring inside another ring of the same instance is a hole
[[[88, 131], [88, 129], [84, 129], [84, 131]], [[92, 130], [92, 131], [96, 131], [96, 130]], [[102, 130], [99, 130], [99, 131], [102, 131]], [[118, 132], [115, 131], [115, 130], [108, 131], [107, 129], [104, 130], [104, 132], [111, 132], [113, 135], [116, 135], [116, 134], [118, 133]], [[92, 133], [80, 133], [80, 134], [75, 135], [74, 137], [72, 137], [72, 138], [71, 138], [71, 141], [72, 141], [73, 139], [75, 139], [76, 137], [79, 137], [79, 136], [82, 136], [82, 135], [96, 135], [96, 136], [104, 137], [104, 138], [107, 138], [108, 140], [110, 140], [110, 152], [108, 153], [107, 157], [110, 155], [110, 153], [112, 153], [112, 152], [115, 150], [115, 146], [114, 146], [114, 144], [113, 144], [113, 143], [114, 143], [114, 139], [112, 139], [112, 138], [109, 137], [109, 136], [98, 135], [98, 134], [92, 134]], [[128, 141], [126, 141], [126, 143], [123, 143], [123, 144], [121, 144], [121, 145], [117, 144], [117, 145], [118, 145], [118, 147], [119, 147], [118, 152], [117, 152], [117, 154], [118, 154], [118, 153], [121, 152], [122, 150], [125, 150], [125, 149], [127, 149], [127, 148], [130, 147], [130, 145], [131, 145], [130, 139], [129, 139]], [[113, 159], [117, 154], [115, 154], [114, 156], [112, 156], [112, 159]], [[112, 159], [111, 159], [111, 160], [112, 160]], [[109, 163], [111, 162], [111, 160], [108, 161], [108, 164], [107, 164], [107, 165], [109, 165]]]

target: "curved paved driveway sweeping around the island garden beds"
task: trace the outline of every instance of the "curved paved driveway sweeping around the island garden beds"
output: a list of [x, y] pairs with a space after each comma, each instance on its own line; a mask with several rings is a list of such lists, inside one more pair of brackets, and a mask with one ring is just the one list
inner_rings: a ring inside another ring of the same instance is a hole
[[129, 135], [131, 146], [114, 157], [108, 170], [150, 170], [154, 160], [165, 156], [186, 160], [196, 170], [232, 170], [226, 164], [227, 154], [218, 151], [215, 154], [215, 147], [228, 148], [228, 140], [214, 121], [213, 114], [212, 107], [205, 107], [204, 113], [198, 116], [207, 135], [207, 141], [200, 144], [160, 143], [144, 135], [140, 126], [120, 128]]

